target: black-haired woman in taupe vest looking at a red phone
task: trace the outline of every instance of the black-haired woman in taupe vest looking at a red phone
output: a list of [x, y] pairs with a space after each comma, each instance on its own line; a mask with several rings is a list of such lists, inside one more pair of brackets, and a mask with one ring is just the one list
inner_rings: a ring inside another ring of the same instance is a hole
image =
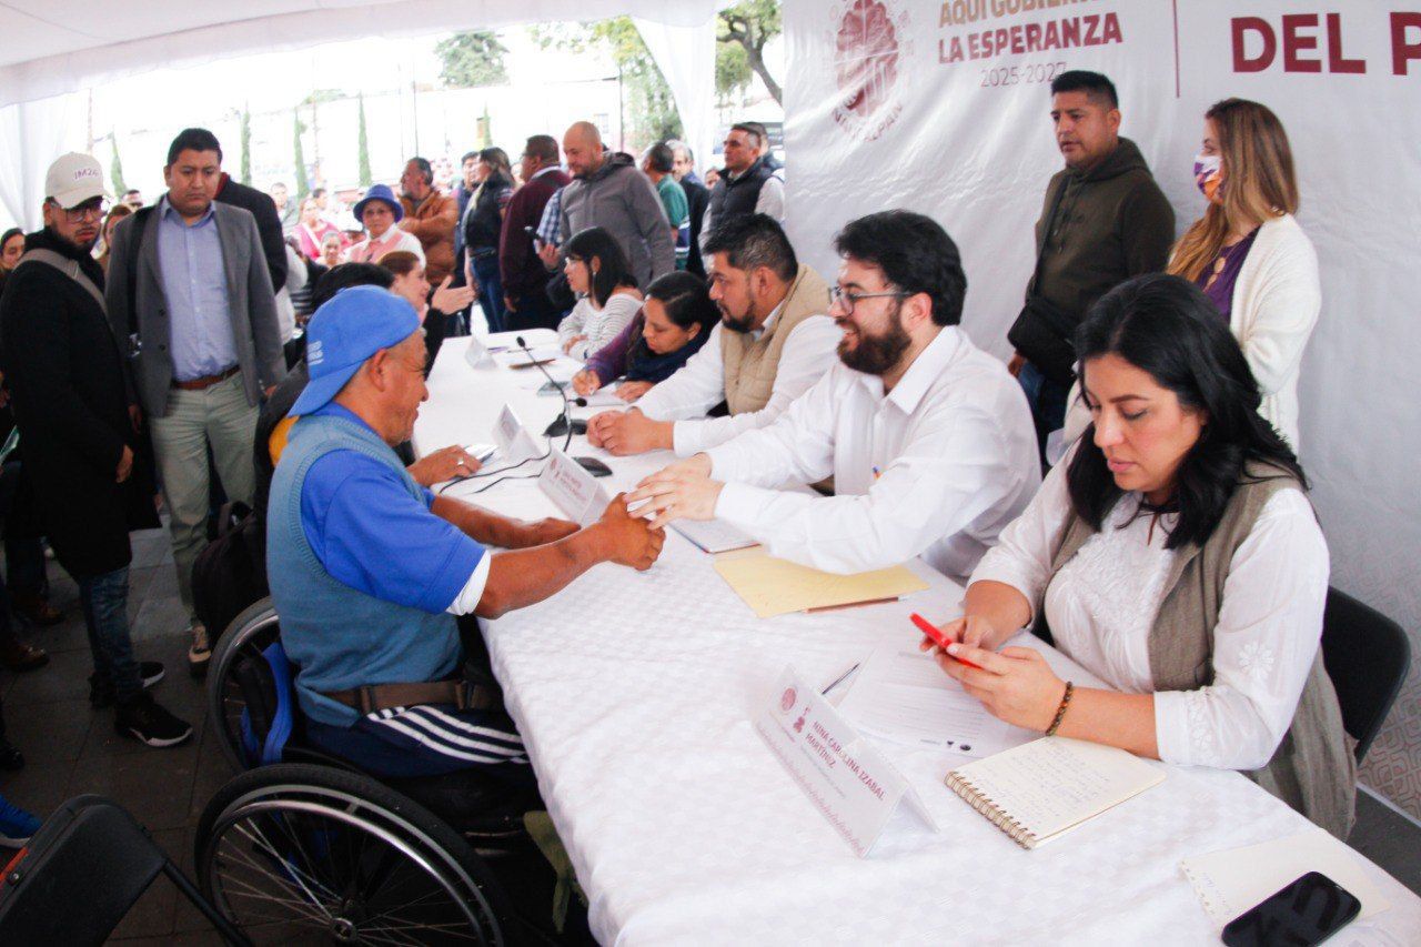
[[[938, 663], [1010, 724], [1243, 771], [1346, 838], [1356, 764], [1319, 651], [1327, 545], [1243, 351], [1167, 274], [1101, 297], [1076, 351], [1091, 425], [944, 626], [982, 670]], [[998, 651], [1027, 626], [1111, 690]]]

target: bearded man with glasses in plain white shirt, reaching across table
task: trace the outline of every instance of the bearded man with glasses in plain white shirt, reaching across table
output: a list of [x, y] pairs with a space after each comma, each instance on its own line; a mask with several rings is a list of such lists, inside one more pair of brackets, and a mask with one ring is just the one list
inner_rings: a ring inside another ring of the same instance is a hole
[[[884, 210], [836, 239], [836, 364], [773, 424], [648, 476], [652, 528], [720, 519], [834, 573], [914, 556], [965, 577], [1040, 486], [1026, 395], [958, 327], [966, 274], [932, 219]], [[834, 496], [776, 489], [833, 474]]]

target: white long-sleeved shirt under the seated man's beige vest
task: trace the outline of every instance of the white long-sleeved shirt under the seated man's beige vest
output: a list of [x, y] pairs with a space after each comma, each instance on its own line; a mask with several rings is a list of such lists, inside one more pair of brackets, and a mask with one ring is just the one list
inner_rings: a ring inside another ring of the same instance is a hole
[[[759, 338], [780, 317], [782, 301], [764, 320], [764, 326], [750, 338]], [[720, 333], [728, 331], [716, 323], [710, 337], [701, 351], [691, 355], [676, 374], [648, 391], [637, 402], [637, 410], [654, 421], [675, 421], [672, 428], [672, 449], [676, 456], [691, 456], [725, 444], [733, 437], [763, 428], [790, 405], [794, 398], [809, 391], [810, 385], [824, 377], [838, 364], [838, 340], [844, 337], [828, 316], [810, 316], [790, 330], [780, 350], [780, 364], [774, 371], [774, 385], [770, 400], [759, 411], [733, 414], [725, 418], [708, 418], [706, 411], [725, 401], [725, 363], [720, 358]], [[806, 481], [813, 483], [823, 478]]]

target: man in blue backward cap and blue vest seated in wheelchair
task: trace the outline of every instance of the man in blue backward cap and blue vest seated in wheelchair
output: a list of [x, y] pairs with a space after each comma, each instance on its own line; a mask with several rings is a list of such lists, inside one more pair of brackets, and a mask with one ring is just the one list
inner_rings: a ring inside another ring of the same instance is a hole
[[[648, 569], [664, 535], [621, 496], [578, 529], [435, 496], [392, 445], [425, 387], [419, 317], [374, 286], [341, 290], [307, 328], [310, 382], [271, 482], [267, 574], [307, 739], [377, 776], [479, 768], [527, 785], [496, 687], [460, 671], [456, 616], [540, 601], [591, 566]], [[506, 552], [489, 552], [499, 546]]]

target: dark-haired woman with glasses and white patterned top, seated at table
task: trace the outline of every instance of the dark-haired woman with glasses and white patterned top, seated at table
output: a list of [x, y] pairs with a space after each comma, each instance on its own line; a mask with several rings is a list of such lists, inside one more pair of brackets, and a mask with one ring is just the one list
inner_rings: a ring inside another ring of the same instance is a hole
[[558, 323], [557, 341], [568, 355], [587, 361], [637, 317], [641, 290], [621, 245], [603, 228], [578, 230], [563, 253], [563, 273], [577, 304]]

